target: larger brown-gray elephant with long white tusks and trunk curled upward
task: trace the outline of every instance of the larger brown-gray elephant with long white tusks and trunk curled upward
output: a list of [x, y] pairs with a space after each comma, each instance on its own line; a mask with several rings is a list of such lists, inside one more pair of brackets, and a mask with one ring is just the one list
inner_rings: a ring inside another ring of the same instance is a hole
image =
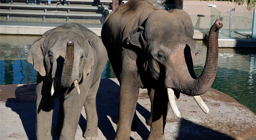
[[[101, 38], [120, 82], [116, 140], [128, 140], [136, 128], [136, 102], [139, 88], [147, 88], [151, 101], [148, 140], [163, 140], [169, 107], [180, 112], [175, 95], [193, 96], [205, 113], [209, 109], [199, 95], [212, 85], [218, 64], [217, 19], [209, 32], [207, 56], [202, 74], [197, 78], [193, 60], [198, 45], [194, 28], [183, 10], [162, 10], [143, 0], [130, 0], [106, 18]], [[168, 103], [169, 102], [169, 103]]]

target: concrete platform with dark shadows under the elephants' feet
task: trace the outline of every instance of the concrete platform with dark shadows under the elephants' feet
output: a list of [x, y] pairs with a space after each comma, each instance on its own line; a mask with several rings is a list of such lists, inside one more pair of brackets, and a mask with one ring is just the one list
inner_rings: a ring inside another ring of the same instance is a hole
[[[32, 140], [36, 139], [36, 84], [0, 85], [0, 139]], [[164, 130], [166, 140], [255, 140], [256, 115], [230, 96], [210, 89], [201, 95], [210, 113], [198, 107], [192, 97], [181, 94], [176, 99], [181, 118], [173, 115], [171, 109], [167, 115]], [[99, 116], [96, 140], [112, 140], [115, 136], [119, 101], [119, 83], [117, 79], [101, 79], [96, 103]], [[59, 103], [55, 100], [52, 128], [57, 122]], [[150, 127], [146, 120], [150, 114], [150, 101], [147, 90], [141, 89], [136, 107], [138, 128], [132, 131], [131, 140], [147, 140]], [[76, 131], [76, 140], [84, 140], [86, 128], [84, 109]], [[59, 139], [52, 135], [53, 140]]]

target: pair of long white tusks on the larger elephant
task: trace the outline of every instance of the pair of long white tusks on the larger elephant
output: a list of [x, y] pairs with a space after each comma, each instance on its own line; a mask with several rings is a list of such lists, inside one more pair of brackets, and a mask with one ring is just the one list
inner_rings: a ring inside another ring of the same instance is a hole
[[[177, 117], [180, 118], [181, 115], [180, 115], [180, 111], [179, 111], [179, 109], [176, 105], [173, 89], [172, 88], [167, 88], [167, 93], [168, 93], [169, 103], [170, 103], [170, 106], [172, 108], [172, 112], [174, 113], [174, 115], [176, 115]], [[209, 108], [206, 106], [206, 104], [204, 103], [204, 101], [202, 100], [200, 95], [193, 96], [193, 97], [196, 100], [196, 103], [199, 105], [199, 107], [204, 111], [204, 113], [208, 114], [209, 113]]]

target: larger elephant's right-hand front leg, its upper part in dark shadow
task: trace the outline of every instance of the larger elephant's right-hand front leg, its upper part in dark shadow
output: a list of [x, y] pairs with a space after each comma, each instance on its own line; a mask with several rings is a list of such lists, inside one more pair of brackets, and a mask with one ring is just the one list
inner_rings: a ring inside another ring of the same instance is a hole
[[164, 140], [164, 126], [169, 109], [166, 89], [155, 89], [153, 98], [152, 122], [148, 140]]

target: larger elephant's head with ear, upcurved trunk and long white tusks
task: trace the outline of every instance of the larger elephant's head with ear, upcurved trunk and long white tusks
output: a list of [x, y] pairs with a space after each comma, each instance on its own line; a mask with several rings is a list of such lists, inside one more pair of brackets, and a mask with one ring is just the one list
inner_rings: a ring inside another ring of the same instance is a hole
[[129, 34], [127, 44], [139, 46], [144, 51], [145, 70], [167, 88], [172, 111], [178, 117], [180, 112], [174, 100], [174, 92], [178, 96], [180, 93], [194, 96], [202, 110], [207, 114], [209, 112], [199, 95], [211, 87], [216, 76], [218, 31], [221, 27], [222, 23], [217, 19], [210, 29], [206, 62], [198, 78], [193, 68], [198, 45], [193, 39], [191, 18], [185, 11], [156, 10], [144, 24]]

